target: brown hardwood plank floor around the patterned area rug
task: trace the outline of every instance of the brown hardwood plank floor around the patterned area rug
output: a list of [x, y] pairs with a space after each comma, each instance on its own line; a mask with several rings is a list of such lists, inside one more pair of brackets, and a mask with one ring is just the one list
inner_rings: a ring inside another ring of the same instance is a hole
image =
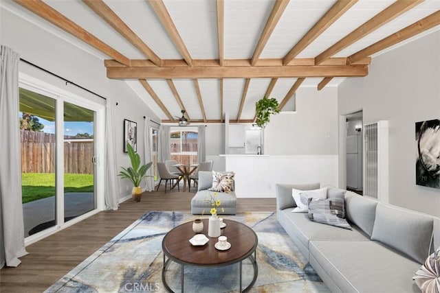
[[[144, 192], [118, 211], [102, 211], [26, 248], [17, 268], [0, 270], [0, 292], [43, 292], [147, 211], [190, 211], [194, 193]], [[238, 198], [237, 211], [275, 211], [275, 198]]]

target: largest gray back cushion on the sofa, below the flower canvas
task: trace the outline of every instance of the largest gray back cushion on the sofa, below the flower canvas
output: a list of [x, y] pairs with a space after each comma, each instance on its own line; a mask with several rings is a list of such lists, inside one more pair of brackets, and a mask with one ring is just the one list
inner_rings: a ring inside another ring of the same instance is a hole
[[428, 215], [377, 204], [371, 239], [423, 263], [430, 255], [434, 220]]

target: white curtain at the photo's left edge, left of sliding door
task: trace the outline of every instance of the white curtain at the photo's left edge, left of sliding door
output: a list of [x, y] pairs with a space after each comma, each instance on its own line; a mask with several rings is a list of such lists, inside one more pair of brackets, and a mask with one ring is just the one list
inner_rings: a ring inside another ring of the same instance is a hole
[[0, 48], [0, 268], [18, 266], [27, 255], [21, 202], [19, 132], [19, 60], [9, 47]]

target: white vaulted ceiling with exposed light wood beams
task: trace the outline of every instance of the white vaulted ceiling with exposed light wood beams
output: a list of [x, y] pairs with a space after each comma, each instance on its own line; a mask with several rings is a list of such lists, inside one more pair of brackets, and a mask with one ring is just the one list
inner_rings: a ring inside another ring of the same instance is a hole
[[1, 5], [102, 58], [107, 76], [126, 80], [163, 122], [174, 122], [181, 109], [193, 122], [219, 122], [224, 113], [232, 121], [254, 121], [261, 97], [283, 106], [299, 86], [322, 89], [362, 78], [371, 57], [439, 30], [440, 23], [440, 0]]

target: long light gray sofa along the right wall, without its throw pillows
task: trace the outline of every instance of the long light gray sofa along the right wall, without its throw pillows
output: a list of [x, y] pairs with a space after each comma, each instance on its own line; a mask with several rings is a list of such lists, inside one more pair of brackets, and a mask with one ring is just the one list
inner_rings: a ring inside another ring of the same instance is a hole
[[412, 276], [440, 246], [439, 218], [329, 187], [345, 192], [347, 230], [292, 213], [292, 188], [320, 185], [276, 185], [276, 216], [331, 292], [420, 292]]

